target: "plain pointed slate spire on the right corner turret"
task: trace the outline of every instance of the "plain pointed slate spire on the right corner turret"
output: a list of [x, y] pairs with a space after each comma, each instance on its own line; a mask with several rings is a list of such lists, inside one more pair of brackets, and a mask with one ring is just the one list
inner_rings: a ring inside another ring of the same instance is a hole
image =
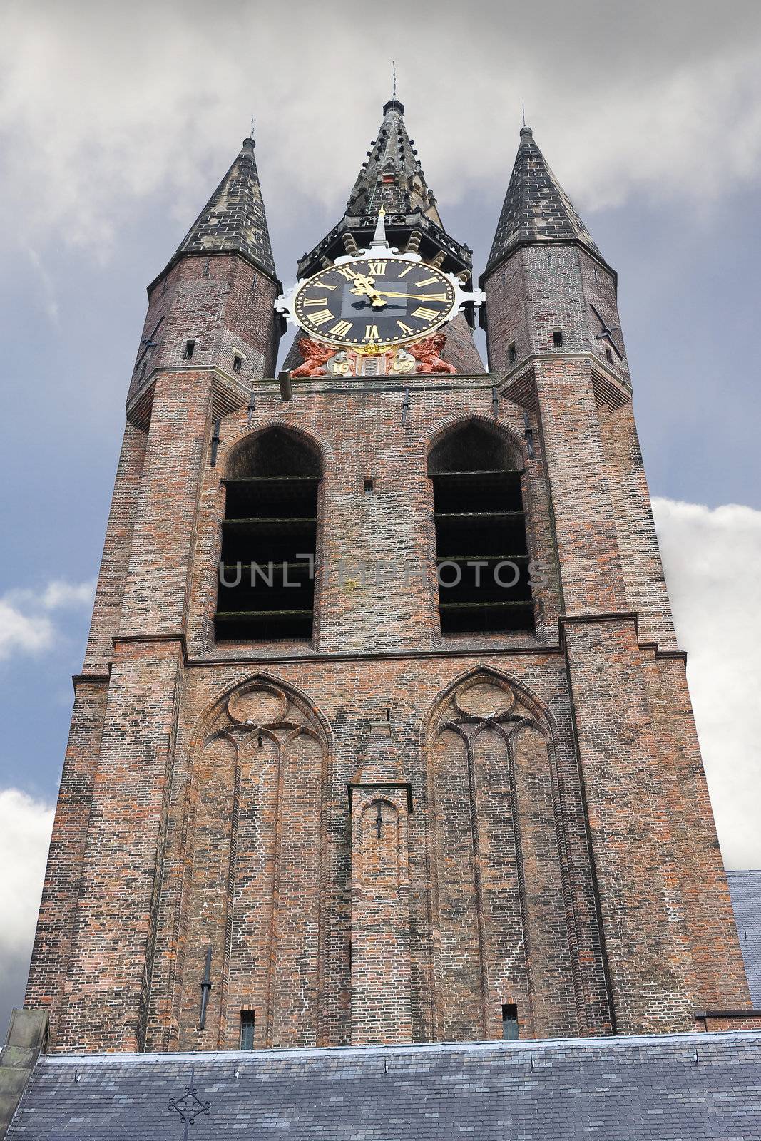
[[531, 127], [524, 126], [486, 273], [527, 242], [578, 242], [602, 257], [534, 141]]

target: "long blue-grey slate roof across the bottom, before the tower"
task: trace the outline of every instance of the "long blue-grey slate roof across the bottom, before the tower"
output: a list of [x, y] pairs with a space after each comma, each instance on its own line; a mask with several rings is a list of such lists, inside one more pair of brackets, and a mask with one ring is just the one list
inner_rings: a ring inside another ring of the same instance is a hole
[[[196, 1091], [195, 1098], [187, 1089]], [[193, 1124], [183, 1120], [194, 1112]], [[250, 1053], [48, 1054], [41, 1055], [8, 1133], [9, 1141], [183, 1136], [759, 1138], [761, 1031]]]

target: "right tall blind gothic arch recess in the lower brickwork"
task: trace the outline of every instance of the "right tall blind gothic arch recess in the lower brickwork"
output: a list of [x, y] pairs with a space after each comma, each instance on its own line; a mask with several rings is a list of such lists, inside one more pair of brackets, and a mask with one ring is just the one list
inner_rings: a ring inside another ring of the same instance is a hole
[[438, 701], [426, 747], [435, 1037], [501, 1037], [513, 1003], [521, 1037], [580, 1033], [547, 713], [478, 670]]

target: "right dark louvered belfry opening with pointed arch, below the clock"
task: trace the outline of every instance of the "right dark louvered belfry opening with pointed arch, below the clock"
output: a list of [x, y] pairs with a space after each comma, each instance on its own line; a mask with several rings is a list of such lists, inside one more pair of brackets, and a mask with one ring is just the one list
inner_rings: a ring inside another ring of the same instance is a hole
[[503, 436], [455, 428], [432, 450], [443, 634], [534, 631], [520, 477]]

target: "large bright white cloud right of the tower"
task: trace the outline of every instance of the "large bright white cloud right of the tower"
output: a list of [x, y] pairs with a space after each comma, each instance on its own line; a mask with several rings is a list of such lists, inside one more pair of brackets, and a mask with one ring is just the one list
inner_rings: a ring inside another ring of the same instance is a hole
[[761, 867], [761, 511], [654, 499], [728, 867]]

